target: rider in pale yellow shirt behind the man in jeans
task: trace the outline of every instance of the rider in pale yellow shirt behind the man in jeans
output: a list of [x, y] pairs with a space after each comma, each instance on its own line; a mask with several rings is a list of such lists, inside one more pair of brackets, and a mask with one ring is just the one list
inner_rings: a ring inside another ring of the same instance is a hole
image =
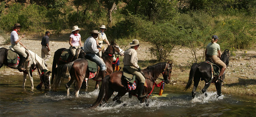
[[[101, 26], [100, 26], [100, 31], [98, 32], [98, 33], [99, 33], [99, 36], [98, 36], [98, 38], [96, 38], [96, 40], [97, 40], [97, 45], [99, 45], [100, 48], [102, 47], [103, 41], [105, 41], [105, 42], [109, 45], [107, 36], [106, 36], [106, 34], [104, 33], [104, 31], [106, 31], [106, 30], [107, 30], [107, 28], [106, 28], [105, 25], [101, 25]], [[102, 48], [102, 49], [103, 49], [103, 48]], [[101, 55], [102, 55], [102, 53], [101, 53], [101, 51], [100, 51], [100, 52], [99, 52], [99, 57], [101, 57]]]

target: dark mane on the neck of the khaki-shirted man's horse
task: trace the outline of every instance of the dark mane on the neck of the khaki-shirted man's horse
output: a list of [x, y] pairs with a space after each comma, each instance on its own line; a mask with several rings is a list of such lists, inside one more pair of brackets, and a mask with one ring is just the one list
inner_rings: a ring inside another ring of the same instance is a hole
[[148, 66], [146, 69], [143, 69], [143, 71], [148, 73], [148, 75], [150, 75], [150, 76], [152, 73], [155, 73], [155, 76], [153, 76], [153, 77], [156, 78], [160, 73], [164, 72], [165, 67], [166, 67], [166, 62], [162, 62], [162, 63], [157, 63], [152, 66]]

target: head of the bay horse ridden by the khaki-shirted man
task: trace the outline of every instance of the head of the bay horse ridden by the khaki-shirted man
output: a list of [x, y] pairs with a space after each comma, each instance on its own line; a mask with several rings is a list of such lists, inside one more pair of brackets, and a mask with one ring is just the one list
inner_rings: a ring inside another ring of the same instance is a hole
[[163, 77], [164, 77], [164, 82], [166, 84], [168, 84], [171, 80], [171, 73], [172, 73], [172, 62], [171, 61], [168, 61], [166, 63], [166, 66], [165, 66], [165, 69], [164, 69], [164, 72], [162, 73], [163, 74]]

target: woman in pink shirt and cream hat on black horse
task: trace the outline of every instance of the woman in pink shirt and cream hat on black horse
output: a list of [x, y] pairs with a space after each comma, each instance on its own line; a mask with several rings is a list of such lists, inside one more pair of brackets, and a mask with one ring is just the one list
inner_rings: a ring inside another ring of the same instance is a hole
[[76, 49], [80, 48], [83, 50], [82, 43], [81, 43], [81, 35], [79, 34], [79, 30], [81, 28], [78, 28], [78, 26], [72, 27], [72, 34], [69, 36], [69, 50], [71, 51], [71, 54], [75, 56]]

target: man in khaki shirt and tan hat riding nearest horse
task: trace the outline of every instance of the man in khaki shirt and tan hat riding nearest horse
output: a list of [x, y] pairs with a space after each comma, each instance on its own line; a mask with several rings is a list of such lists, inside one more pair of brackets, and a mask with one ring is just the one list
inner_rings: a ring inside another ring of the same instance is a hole
[[124, 68], [127, 69], [131, 74], [135, 75], [135, 77], [140, 81], [140, 83], [137, 85], [138, 90], [138, 99], [141, 100], [144, 97], [147, 97], [146, 95], [142, 95], [143, 89], [144, 89], [144, 83], [145, 78], [140, 73], [141, 69], [138, 65], [138, 58], [137, 58], [137, 50], [140, 46], [139, 40], [133, 39], [132, 43], [129, 43], [131, 46], [129, 49], [124, 51]]

